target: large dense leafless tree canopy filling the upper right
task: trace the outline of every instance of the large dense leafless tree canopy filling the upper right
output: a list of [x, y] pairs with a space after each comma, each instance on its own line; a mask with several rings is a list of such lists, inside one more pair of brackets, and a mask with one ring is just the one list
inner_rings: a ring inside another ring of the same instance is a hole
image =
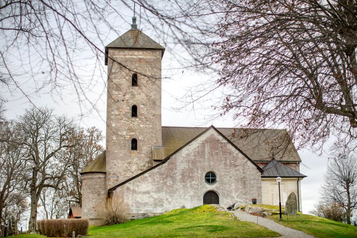
[[357, 2], [215, 2], [203, 1], [206, 8], [188, 18], [202, 26], [200, 19], [216, 16], [196, 31], [204, 40], [190, 41], [198, 66], [218, 65], [211, 89], [225, 88], [220, 113], [247, 127], [283, 125], [300, 146], [321, 148], [333, 135], [335, 152], [354, 150]]

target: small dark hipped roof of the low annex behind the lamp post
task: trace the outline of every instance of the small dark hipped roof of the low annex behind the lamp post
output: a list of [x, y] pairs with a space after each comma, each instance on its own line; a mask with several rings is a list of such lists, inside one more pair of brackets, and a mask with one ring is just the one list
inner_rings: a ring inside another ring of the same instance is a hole
[[283, 178], [288, 178], [288, 177], [300, 177], [304, 178], [306, 177], [305, 175], [297, 172], [296, 170], [293, 170], [292, 168], [283, 165], [279, 161], [276, 161], [275, 159], [272, 159], [267, 165], [265, 165], [263, 168], [264, 173], [261, 175], [261, 177], [283, 177]]

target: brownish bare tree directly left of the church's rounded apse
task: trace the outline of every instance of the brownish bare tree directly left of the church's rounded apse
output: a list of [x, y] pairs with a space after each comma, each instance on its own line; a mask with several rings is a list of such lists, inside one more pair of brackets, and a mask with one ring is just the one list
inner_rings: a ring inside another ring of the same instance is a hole
[[76, 127], [70, 136], [71, 147], [59, 152], [58, 157], [68, 161], [65, 174], [56, 188], [47, 187], [41, 192], [41, 204], [46, 219], [63, 218], [67, 215], [68, 204], [82, 205], [82, 179], [80, 172], [103, 150], [102, 132], [95, 127]]

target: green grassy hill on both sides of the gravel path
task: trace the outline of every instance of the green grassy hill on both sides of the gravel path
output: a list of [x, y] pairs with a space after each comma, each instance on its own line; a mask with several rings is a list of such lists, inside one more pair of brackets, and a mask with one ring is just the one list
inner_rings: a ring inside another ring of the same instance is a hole
[[[269, 208], [273, 207], [269, 206]], [[304, 214], [294, 217], [283, 215], [283, 221], [279, 221], [279, 215], [269, 218], [315, 237], [357, 238], [357, 227], [325, 218]], [[88, 235], [90, 238], [256, 238], [280, 236], [278, 233], [254, 223], [239, 221], [228, 212], [218, 212], [210, 205], [191, 209], [176, 209], [160, 216], [114, 226], [90, 227]], [[44, 238], [44, 236], [33, 234], [19, 235], [16, 238]]]

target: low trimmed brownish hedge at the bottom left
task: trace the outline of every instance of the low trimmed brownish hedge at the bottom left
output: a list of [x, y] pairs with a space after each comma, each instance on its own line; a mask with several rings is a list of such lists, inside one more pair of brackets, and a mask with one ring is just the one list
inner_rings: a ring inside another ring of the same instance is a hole
[[49, 219], [37, 221], [38, 231], [47, 237], [87, 236], [89, 222], [87, 219]]

